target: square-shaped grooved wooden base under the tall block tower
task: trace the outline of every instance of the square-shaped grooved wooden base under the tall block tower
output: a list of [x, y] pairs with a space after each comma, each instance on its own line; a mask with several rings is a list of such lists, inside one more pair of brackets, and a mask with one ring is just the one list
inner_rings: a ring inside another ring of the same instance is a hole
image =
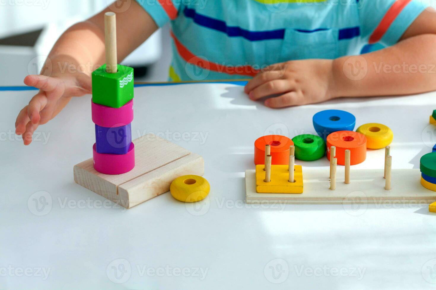
[[[119, 175], [99, 173], [88, 159], [74, 166], [74, 181], [130, 208], [170, 190], [179, 176], [204, 174], [203, 157], [153, 134], [136, 140], [135, 168]], [[90, 148], [92, 153], [92, 148]]]

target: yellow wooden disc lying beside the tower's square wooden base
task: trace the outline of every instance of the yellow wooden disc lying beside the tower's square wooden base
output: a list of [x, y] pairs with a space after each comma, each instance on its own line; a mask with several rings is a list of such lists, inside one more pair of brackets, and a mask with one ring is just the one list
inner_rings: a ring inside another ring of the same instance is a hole
[[198, 175], [177, 177], [170, 185], [171, 195], [176, 200], [187, 203], [203, 200], [210, 190], [208, 180]]

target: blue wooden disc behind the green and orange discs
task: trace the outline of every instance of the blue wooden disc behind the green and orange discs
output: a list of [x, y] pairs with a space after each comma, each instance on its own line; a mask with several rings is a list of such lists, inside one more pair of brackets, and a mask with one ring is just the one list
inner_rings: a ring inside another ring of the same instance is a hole
[[353, 131], [356, 117], [342, 110], [325, 110], [313, 115], [313, 127], [320, 137], [327, 136], [337, 131]]

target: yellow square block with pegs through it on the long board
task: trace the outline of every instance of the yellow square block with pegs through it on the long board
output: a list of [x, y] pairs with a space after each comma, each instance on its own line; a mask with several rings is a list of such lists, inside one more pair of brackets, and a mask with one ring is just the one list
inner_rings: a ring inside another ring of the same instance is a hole
[[271, 181], [265, 182], [265, 166], [256, 165], [257, 193], [303, 193], [303, 169], [294, 166], [295, 182], [289, 182], [288, 165], [271, 165]]

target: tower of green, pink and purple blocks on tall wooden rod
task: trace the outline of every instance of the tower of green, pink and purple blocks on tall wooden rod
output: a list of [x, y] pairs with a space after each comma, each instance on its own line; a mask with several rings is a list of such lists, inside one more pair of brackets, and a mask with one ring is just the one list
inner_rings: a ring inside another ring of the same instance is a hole
[[92, 73], [94, 168], [122, 174], [135, 167], [132, 142], [133, 68], [117, 64], [115, 13], [105, 14], [106, 64]]

